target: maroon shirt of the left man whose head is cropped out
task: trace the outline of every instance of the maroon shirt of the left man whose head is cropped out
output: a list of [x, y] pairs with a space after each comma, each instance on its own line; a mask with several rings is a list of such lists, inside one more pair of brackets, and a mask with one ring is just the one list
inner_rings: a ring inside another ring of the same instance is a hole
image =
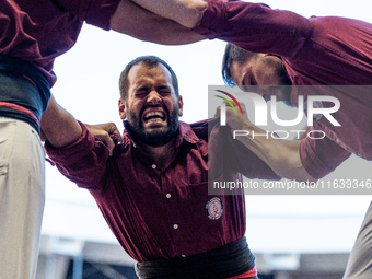
[[119, 0], [0, 0], [0, 54], [43, 71], [50, 85], [53, 63], [77, 42], [83, 22], [109, 30]]

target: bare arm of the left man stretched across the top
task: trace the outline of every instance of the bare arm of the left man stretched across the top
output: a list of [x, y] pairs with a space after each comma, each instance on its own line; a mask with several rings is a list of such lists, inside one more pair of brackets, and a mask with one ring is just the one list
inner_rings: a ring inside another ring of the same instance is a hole
[[154, 14], [130, 0], [119, 2], [111, 18], [111, 28], [141, 40], [162, 45], [185, 45], [205, 39], [190, 28], [163, 18], [162, 14]]

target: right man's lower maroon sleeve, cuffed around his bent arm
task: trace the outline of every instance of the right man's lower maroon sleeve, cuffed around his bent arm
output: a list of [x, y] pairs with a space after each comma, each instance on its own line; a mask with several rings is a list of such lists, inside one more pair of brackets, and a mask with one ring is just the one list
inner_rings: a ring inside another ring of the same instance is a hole
[[[312, 128], [314, 129], [314, 128]], [[322, 137], [322, 135], [315, 136]], [[300, 159], [306, 172], [316, 179], [335, 171], [351, 153], [335, 141], [304, 138], [300, 144]]]

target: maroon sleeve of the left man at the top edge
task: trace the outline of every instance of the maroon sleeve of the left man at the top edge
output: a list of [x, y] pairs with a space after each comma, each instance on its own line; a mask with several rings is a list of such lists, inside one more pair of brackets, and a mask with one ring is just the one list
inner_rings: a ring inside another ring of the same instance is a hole
[[120, 0], [57, 0], [58, 4], [79, 20], [109, 30], [109, 20]]

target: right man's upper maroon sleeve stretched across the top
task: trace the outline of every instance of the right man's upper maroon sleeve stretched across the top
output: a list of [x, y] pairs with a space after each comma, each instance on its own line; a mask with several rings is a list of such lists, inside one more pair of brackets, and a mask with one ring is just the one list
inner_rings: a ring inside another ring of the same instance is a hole
[[309, 38], [312, 24], [299, 14], [261, 3], [209, 0], [194, 31], [249, 51], [290, 56]]

